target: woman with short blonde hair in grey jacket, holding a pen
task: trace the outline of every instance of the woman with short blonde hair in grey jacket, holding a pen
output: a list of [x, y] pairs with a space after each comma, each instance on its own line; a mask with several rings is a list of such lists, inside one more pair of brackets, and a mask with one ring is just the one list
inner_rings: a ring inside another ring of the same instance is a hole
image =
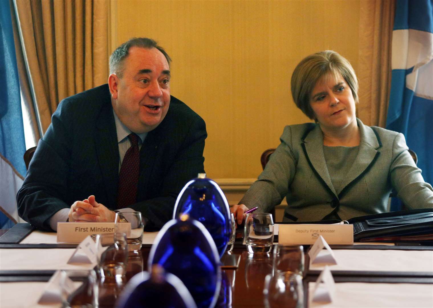
[[283, 221], [347, 220], [388, 211], [391, 189], [409, 208], [433, 207], [433, 189], [407, 151], [404, 136], [355, 116], [352, 65], [326, 50], [304, 58], [291, 78], [296, 106], [315, 123], [289, 125], [265, 170], [232, 207], [238, 223], [258, 206], [288, 206]]

